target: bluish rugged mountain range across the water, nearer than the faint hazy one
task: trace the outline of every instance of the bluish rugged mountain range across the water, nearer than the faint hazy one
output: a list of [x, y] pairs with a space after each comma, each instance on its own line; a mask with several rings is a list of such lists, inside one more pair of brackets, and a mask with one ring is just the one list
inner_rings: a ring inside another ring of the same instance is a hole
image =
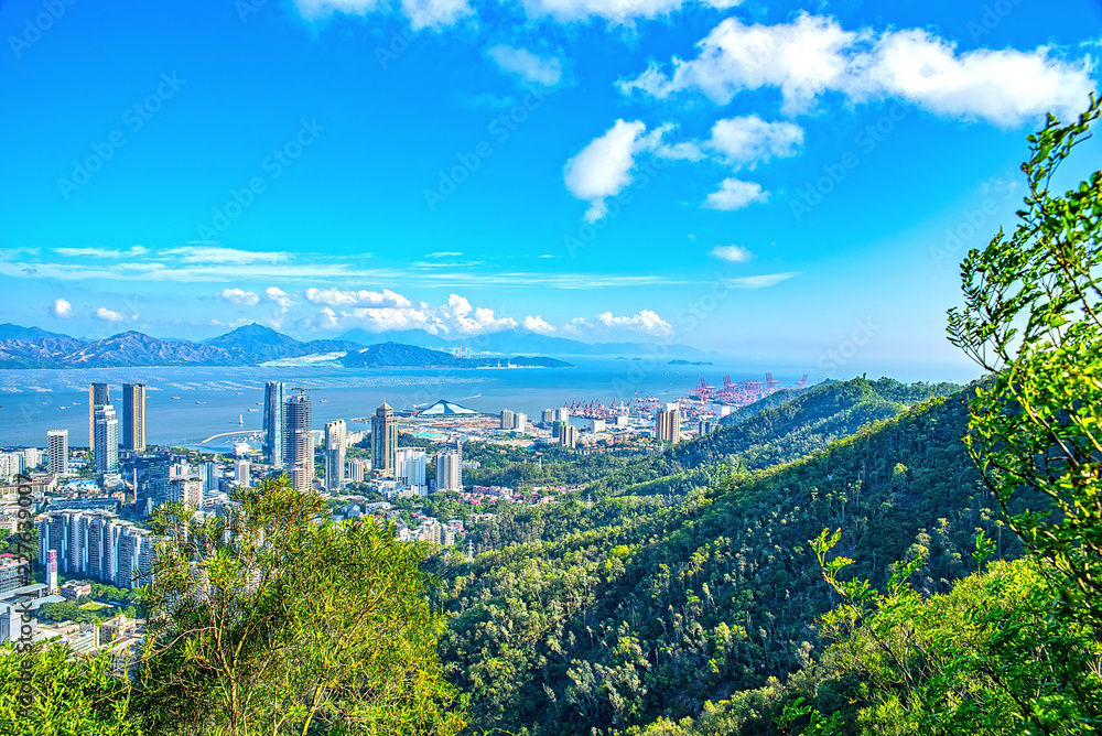
[[365, 347], [348, 339], [304, 343], [258, 324], [201, 343], [125, 332], [79, 339], [37, 327], [0, 325], [0, 368], [130, 368], [137, 366], [251, 366], [269, 360], [344, 353], [343, 365], [395, 368], [483, 368], [497, 365], [561, 368], [553, 358], [457, 358], [450, 353], [389, 342]]

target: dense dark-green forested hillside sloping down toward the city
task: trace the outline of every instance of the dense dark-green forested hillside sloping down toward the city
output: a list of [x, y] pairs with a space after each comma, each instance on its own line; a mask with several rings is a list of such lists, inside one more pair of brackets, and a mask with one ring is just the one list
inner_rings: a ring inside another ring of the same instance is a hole
[[820, 649], [817, 617], [836, 603], [808, 544], [825, 527], [842, 529], [856, 574], [883, 583], [910, 551], [920, 585], [949, 589], [976, 531], [1001, 537], [960, 441], [962, 397], [861, 426], [921, 392], [936, 389], [825, 385], [633, 464], [592, 507], [574, 498], [499, 524], [520, 543], [460, 569], [442, 600], [454, 615], [442, 658], [473, 725], [608, 734], [774, 688]]

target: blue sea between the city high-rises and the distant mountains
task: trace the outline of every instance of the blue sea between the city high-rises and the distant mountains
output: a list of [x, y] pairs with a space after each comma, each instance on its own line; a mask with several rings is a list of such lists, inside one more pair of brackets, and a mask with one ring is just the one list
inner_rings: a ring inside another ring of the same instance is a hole
[[[764, 380], [761, 370], [731, 365], [669, 365], [668, 357], [634, 359], [565, 358], [572, 368], [344, 368], [339, 366], [164, 367], [58, 370], [0, 370], [0, 448], [44, 447], [46, 432], [68, 430], [69, 446], [88, 445], [88, 385], [110, 385], [121, 416], [122, 383], [145, 383], [147, 442], [159, 445], [229, 450], [234, 440], [259, 431], [263, 422], [264, 382], [309, 390], [314, 429], [344, 419], [350, 431], [366, 424], [387, 401], [396, 410], [423, 408], [439, 399], [479, 412], [503, 409], [540, 416], [544, 409], [572, 402], [609, 405], [635, 397], [674, 401], [705, 379], [723, 386], [732, 380]], [[800, 379], [797, 369], [780, 367], [774, 378], [782, 387]], [[811, 378], [810, 383], [817, 380]], [[216, 436], [220, 435], [220, 436]], [[212, 439], [214, 437], [214, 439]], [[256, 441], [251, 444], [256, 446]]]

